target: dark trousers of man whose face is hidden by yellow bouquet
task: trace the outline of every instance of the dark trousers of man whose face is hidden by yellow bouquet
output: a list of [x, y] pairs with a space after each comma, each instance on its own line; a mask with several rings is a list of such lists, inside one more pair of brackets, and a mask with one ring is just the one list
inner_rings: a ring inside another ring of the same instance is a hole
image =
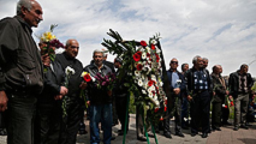
[[37, 102], [35, 121], [35, 144], [58, 144], [62, 109], [60, 100]]

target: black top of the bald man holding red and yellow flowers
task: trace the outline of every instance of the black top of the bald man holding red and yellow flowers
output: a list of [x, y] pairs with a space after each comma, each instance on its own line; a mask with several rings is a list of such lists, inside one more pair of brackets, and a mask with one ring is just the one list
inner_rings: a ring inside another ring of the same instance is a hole
[[62, 54], [57, 54], [55, 58], [56, 62], [59, 62], [61, 64], [61, 67], [63, 71], [65, 71], [67, 66], [70, 66], [75, 70], [75, 74], [71, 75], [69, 78], [69, 86], [67, 87], [69, 89], [68, 96], [72, 98], [80, 98], [80, 84], [83, 81], [83, 78], [81, 77], [81, 74], [83, 72], [83, 65], [82, 63], [75, 58], [70, 58], [66, 52]]

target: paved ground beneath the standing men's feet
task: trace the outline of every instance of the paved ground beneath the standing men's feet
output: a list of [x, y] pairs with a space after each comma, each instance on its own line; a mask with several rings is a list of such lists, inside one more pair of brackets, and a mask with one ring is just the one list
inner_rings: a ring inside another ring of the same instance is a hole
[[[89, 121], [86, 121], [87, 131], [89, 131]], [[251, 123], [249, 130], [239, 129], [238, 131], [233, 131], [231, 126], [221, 127], [222, 131], [212, 132], [207, 139], [201, 138], [200, 135], [195, 137], [190, 136], [190, 130], [183, 130], [185, 138], [180, 138], [177, 136], [172, 136], [172, 139], [167, 139], [161, 134], [157, 135], [159, 144], [256, 144], [256, 123]], [[141, 142], [136, 140], [135, 131], [135, 115], [130, 116], [129, 131], [126, 137], [126, 144], [147, 144], [146, 142]], [[174, 131], [174, 123], [171, 124], [171, 130]], [[117, 131], [120, 125], [113, 127], [113, 135], [116, 139], [112, 141], [112, 144], [122, 144], [123, 136], [117, 136]], [[76, 144], [89, 144], [89, 134], [78, 135]], [[101, 139], [103, 135], [101, 134]], [[0, 144], [6, 144], [6, 136], [0, 136]], [[150, 144], [154, 144], [154, 138], [150, 138]], [[103, 143], [101, 143], [103, 144]]]

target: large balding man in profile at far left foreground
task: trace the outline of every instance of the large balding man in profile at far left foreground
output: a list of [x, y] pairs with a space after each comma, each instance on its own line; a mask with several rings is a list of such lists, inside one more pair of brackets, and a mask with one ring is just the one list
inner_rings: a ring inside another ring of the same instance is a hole
[[35, 0], [19, 0], [17, 15], [0, 21], [0, 110], [8, 105], [8, 144], [33, 143], [35, 104], [43, 90], [43, 69], [32, 27], [43, 20], [42, 14]]

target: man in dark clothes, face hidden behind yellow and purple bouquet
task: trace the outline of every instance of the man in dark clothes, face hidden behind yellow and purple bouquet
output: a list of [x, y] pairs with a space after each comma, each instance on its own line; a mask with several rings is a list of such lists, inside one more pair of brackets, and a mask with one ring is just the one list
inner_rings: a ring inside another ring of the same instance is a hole
[[62, 121], [62, 97], [68, 90], [62, 86], [65, 72], [61, 64], [50, 61], [44, 66], [44, 90], [37, 100], [35, 144], [57, 144]]

